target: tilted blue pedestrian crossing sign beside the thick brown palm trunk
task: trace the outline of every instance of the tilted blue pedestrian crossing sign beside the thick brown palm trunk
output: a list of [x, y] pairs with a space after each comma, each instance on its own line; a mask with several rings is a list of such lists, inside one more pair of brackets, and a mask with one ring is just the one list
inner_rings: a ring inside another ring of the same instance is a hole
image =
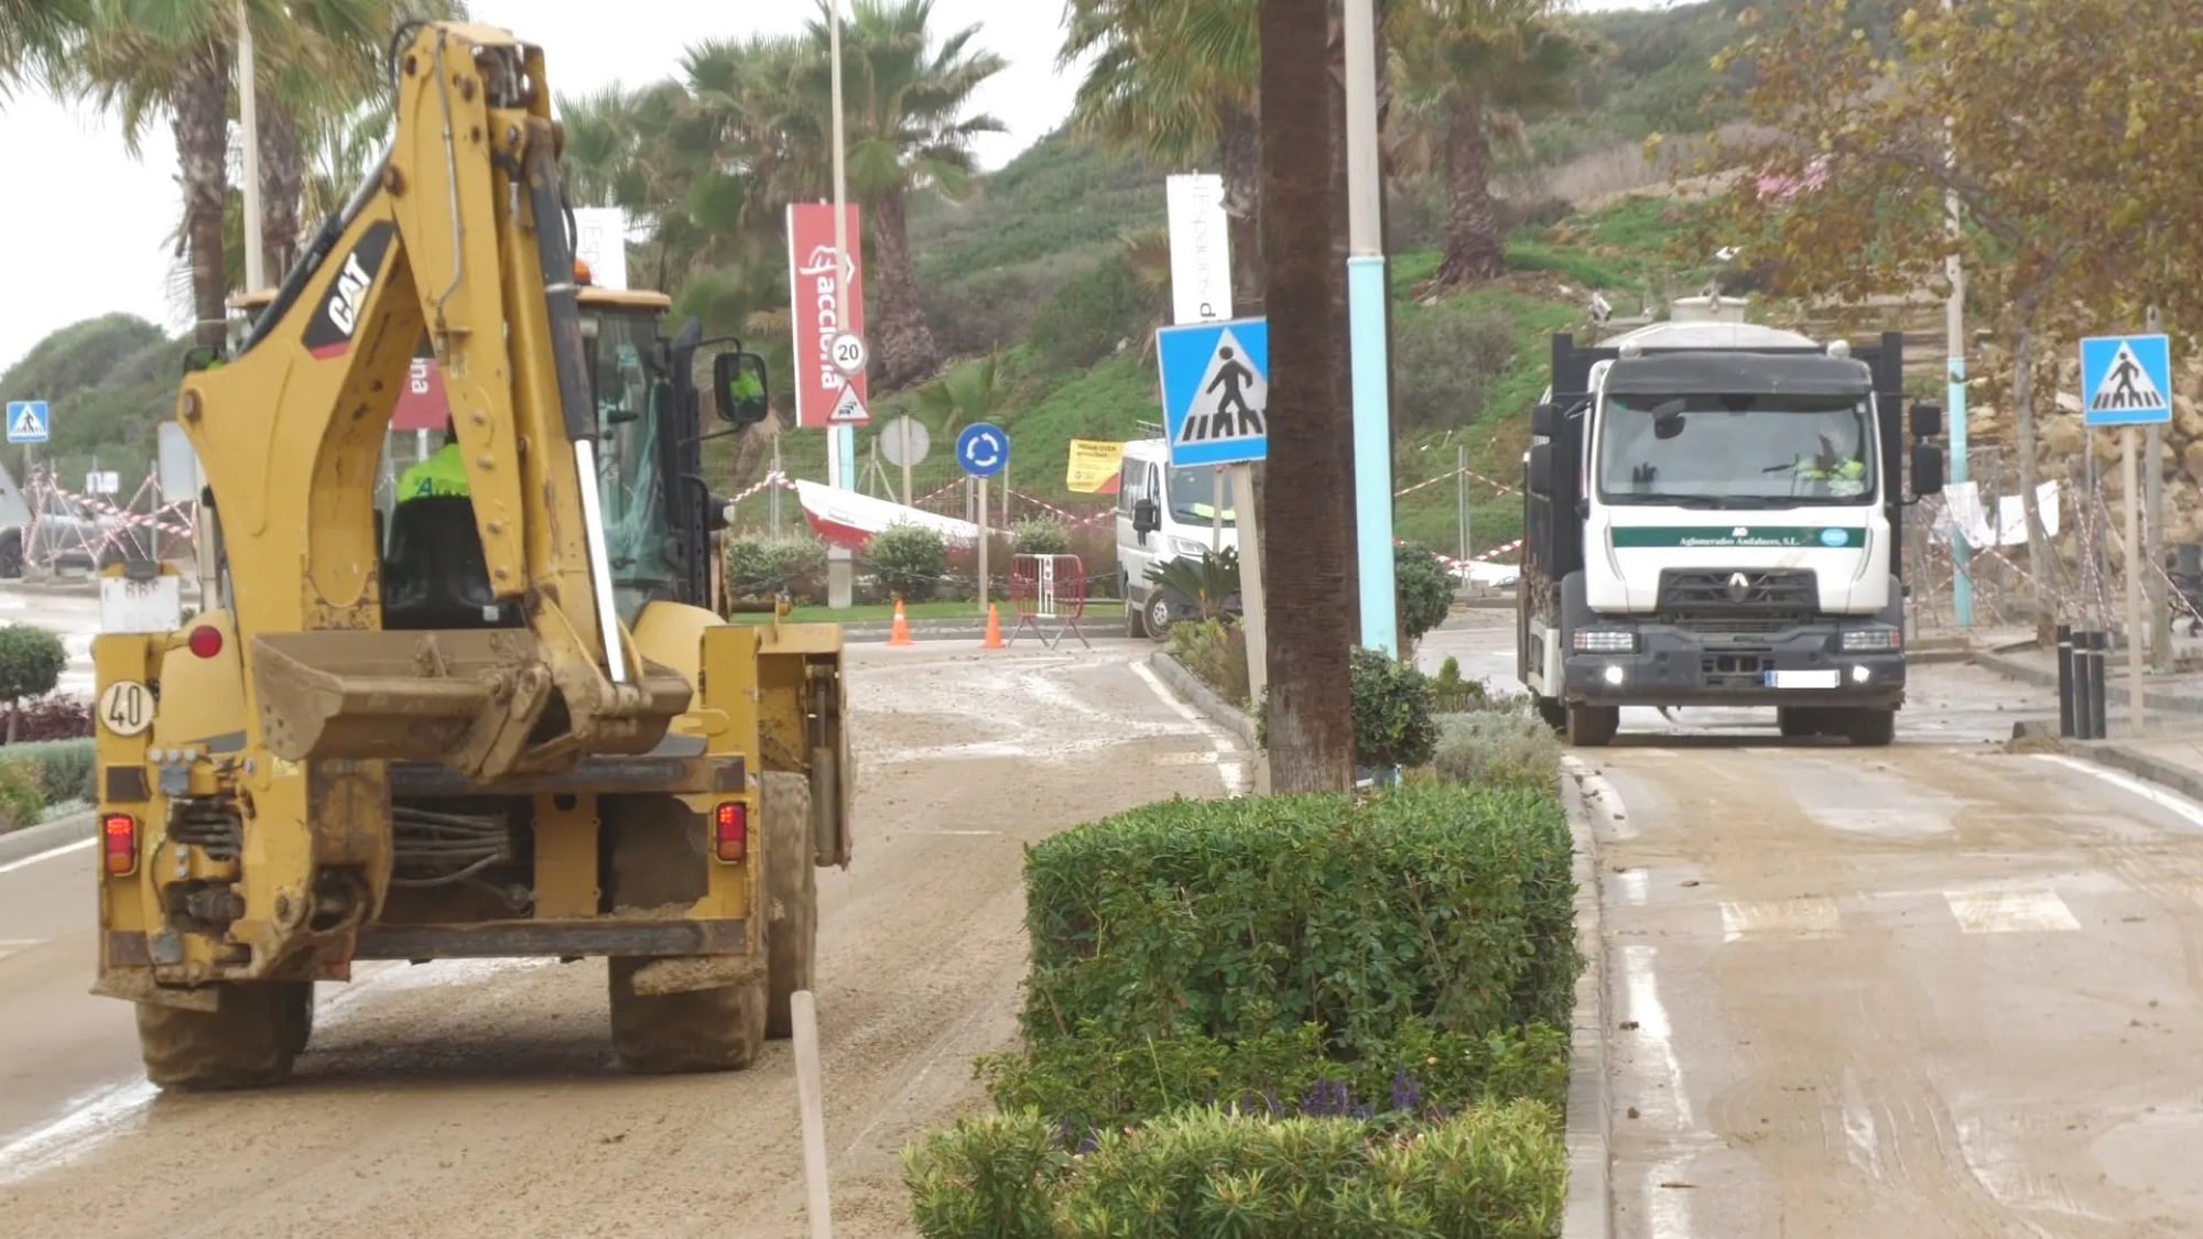
[[1269, 456], [1269, 320], [1190, 322], [1154, 333], [1172, 467]]

